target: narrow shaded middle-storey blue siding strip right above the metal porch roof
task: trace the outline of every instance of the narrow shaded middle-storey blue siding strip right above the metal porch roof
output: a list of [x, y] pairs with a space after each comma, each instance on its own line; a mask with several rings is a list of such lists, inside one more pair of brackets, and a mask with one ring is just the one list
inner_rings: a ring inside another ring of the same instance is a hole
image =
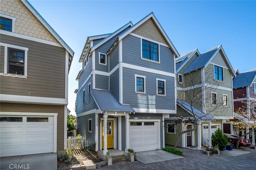
[[119, 101], [119, 69], [110, 75], [110, 92]]

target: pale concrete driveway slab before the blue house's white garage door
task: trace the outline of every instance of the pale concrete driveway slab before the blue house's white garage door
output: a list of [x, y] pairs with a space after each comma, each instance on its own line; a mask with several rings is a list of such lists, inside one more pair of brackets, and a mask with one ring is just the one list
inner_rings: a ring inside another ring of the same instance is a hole
[[173, 160], [183, 158], [183, 156], [178, 156], [164, 150], [150, 150], [144, 152], [136, 152], [138, 161], [143, 164], [151, 164], [156, 162], [162, 162], [166, 160]]

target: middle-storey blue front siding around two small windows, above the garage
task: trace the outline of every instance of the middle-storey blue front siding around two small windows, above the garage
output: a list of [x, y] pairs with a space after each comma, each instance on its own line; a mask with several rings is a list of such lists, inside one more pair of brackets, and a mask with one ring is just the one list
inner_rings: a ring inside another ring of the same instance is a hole
[[[134, 74], [146, 76], [146, 94], [135, 93]], [[166, 80], [166, 96], [156, 96], [156, 78]], [[123, 68], [123, 102], [133, 108], [174, 110], [174, 77]]]

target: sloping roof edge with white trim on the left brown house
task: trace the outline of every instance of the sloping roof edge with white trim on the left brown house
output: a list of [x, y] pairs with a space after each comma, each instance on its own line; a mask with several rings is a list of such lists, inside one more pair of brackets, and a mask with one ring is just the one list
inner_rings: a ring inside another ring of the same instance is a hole
[[21, 2], [34, 14], [34, 16], [46, 27], [46, 29], [57, 39], [57, 41], [68, 51], [68, 53], [71, 55], [69, 57], [69, 64], [68, 64], [68, 70], [70, 69], [73, 57], [74, 57], [74, 51], [68, 46], [68, 44], [54, 31], [54, 29], [49, 25], [49, 23], [44, 20], [44, 18], [37, 12], [37, 10], [28, 2], [28, 0], [21, 0]]

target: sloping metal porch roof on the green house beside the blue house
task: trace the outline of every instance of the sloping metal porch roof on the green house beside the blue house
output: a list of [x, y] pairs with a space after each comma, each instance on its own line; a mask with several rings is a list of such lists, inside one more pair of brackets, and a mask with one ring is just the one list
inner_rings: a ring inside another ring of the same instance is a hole
[[194, 112], [194, 115], [197, 119], [200, 120], [216, 120], [216, 118], [214, 118], [212, 115], [210, 114], [205, 114], [204, 112], [200, 111], [199, 109], [197, 109], [196, 107], [191, 105], [184, 101], [184, 100], [177, 100], [177, 104], [178, 106], [182, 107], [182, 109], [185, 109], [188, 113], [190, 113], [191, 115], [193, 115], [192, 111]]

